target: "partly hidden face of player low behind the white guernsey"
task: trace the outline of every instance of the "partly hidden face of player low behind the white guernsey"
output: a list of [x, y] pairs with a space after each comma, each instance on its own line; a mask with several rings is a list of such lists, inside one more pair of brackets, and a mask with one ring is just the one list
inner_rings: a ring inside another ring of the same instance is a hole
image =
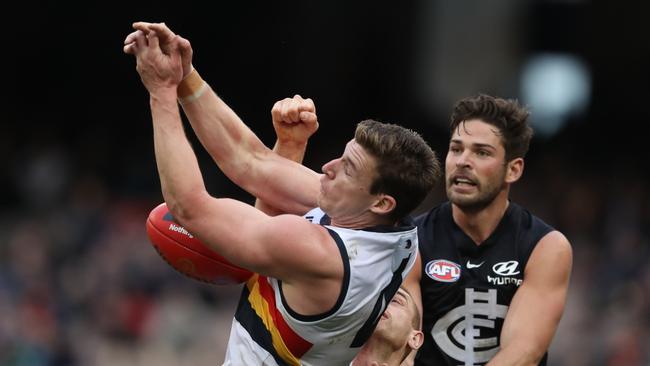
[[413, 330], [413, 320], [417, 308], [408, 292], [398, 289], [379, 319], [373, 337], [381, 336], [384, 341], [403, 347]]

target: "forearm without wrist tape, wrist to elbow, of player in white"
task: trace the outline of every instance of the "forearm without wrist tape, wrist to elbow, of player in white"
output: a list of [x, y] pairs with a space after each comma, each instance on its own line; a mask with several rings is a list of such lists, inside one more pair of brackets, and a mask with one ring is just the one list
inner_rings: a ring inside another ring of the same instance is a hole
[[150, 98], [154, 150], [163, 197], [170, 211], [183, 223], [191, 216], [192, 201], [205, 192], [196, 156], [185, 137], [176, 95]]

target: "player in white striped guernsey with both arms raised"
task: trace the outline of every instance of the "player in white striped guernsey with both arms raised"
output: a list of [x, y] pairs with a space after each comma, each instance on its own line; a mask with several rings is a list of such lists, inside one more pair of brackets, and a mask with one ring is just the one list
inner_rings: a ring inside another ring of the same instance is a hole
[[[124, 51], [149, 91], [169, 210], [228, 261], [259, 274], [243, 289], [225, 364], [349, 364], [415, 262], [416, 229], [403, 219], [437, 181], [435, 153], [413, 131], [368, 120], [318, 174], [264, 146], [192, 69], [187, 40], [164, 24], [134, 27]], [[292, 214], [268, 216], [208, 194], [179, 101], [221, 170]], [[310, 100], [274, 109], [274, 118], [316, 123]]]

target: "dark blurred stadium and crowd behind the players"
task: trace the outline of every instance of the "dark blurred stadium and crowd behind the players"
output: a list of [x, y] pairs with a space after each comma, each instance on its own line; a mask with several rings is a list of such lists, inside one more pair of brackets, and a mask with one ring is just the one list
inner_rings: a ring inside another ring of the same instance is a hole
[[[575, 257], [550, 364], [650, 363], [647, 3], [15, 6], [3, 23], [0, 364], [223, 358], [238, 288], [178, 275], [145, 237], [162, 198], [148, 97], [122, 54], [136, 20], [188, 38], [203, 77], [269, 145], [272, 104], [313, 98], [314, 169], [361, 119], [414, 128], [444, 158], [455, 100], [486, 92], [531, 105], [543, 123], [512, 197], [563, 231]], [[213, 194], [252, 202], [195, 149]]]

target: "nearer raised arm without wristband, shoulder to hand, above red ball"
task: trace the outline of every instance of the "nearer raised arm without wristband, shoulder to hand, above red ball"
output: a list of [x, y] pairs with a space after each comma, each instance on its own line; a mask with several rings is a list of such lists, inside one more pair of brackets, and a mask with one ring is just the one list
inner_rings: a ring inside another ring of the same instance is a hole
[[179, 57], [173, 48], [169, 55], [161, 52], [155, 34], [139, 41], [133, 53], [150, 93], [156, 164], [174, 218], [234, 264], [286, 281], [288, 294], [303, 294], [299, 308], [307, 313], [331, 308], [343, 265], [327, 230], [299, 216], [269, 217], [208, 194], [176, 101]]

